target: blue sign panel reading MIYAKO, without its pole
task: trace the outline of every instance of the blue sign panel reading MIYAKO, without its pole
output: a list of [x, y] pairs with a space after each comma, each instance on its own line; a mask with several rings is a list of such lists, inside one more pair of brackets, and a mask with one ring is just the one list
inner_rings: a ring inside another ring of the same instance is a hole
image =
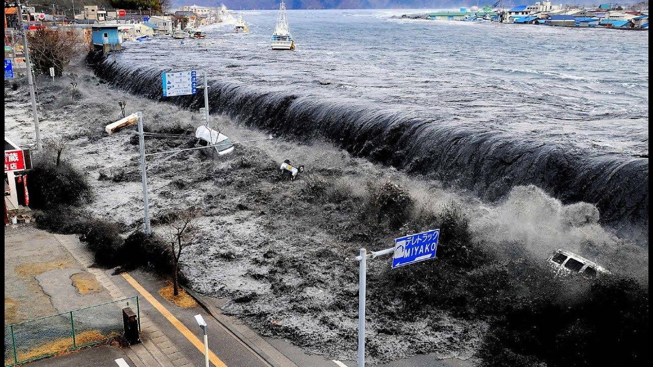
[[434, 229], [432, 231], [395, 238], [392, 268], [435, 259], [439, 236], [440, 230]]

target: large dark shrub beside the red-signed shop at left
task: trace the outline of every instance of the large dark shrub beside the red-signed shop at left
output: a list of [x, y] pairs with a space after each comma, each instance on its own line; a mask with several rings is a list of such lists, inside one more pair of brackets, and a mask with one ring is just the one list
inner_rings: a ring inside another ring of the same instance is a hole
[[86, 176], [67, 162], [58, 166], [49, 160], [38, 159], [27, 180], [29, 206], [34, 209], [76, 205], [91, 200], [91, 187]]

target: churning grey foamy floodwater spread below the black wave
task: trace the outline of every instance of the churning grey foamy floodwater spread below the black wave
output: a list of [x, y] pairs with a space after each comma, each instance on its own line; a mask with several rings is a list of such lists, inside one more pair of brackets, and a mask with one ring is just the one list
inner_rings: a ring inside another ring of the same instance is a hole
[[[88, 175], [95, 199], [93, 214], [139, 229], [142, 191], [138, 138], [130, 127], [107, 135], [104, 126], [126, 112], [142, 111], [146, 130], [193, 135], [203, 123], [197, 111], [155, 103], [104, 84], [83, 68], [55, 82], [39, 78], [44, 138], [68, 140], [63, 158]], [[71, 80], [78, 83], [72, 100]], [[5, 85], [5, 135], [18, 144], [33, 141], [29, 93], [24, 85]], [[234, 141], [266, 136], [239, 121], [213, 116], [213, 127]], [[192, 147], [192, 138], [146, 140], [148, 153]], [[159, 158], [150, 157], [153, 165]], [[279, 173], [284, 159], [304, 165], [294, 181]], [[414, 203], [406, 224], [379, 225], [370, 197], [386, 182], [406, 189]], [[356, 351], [359, 247], [379, 250], [393, 238], [419, 231], [421, 218], [459, 208], [470, 220], [475, 241], [499, 247], [520, 243], [542, 263], [558, 248], [570, 249], [610, 268], [648, 282], [648, 249], [616, 238], [597, 224], [590, 204], [564, 206], [537, 187], [516, 187], [499, 204], [484, 204], [440, 182], [407, 176], [374, 165], [320, 141], [274, 138], [238, 145], [231, 155], [182, 153], [148, 171], [150, 212], [157, 215], [199, 206], [202, 240], [182, 256], [182, 270], [200, 293], [231, 299], [224, 308], [259, 332], [291, 340], [308, 351], [334, 359], [353, 359]], [[445, 234], [443, 234], [445, 235]], [[430, 266], [438, 266], [432, 261]], [[368, 263], [369, 289], [388, 276], [390, 259]], [[387, 300], [387, 298], [383, 298]], [[447, 310], [424, 310], [414, 321], [395, 322], [368, 293], [368, 353], [372, 362], [415, 353], [473, 358], [486, 325], [456, 318]]]

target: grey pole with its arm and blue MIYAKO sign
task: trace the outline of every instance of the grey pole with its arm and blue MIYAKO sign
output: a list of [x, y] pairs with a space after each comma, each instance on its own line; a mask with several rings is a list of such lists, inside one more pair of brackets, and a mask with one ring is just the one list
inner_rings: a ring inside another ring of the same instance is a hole
[[367, 276], [367, 260], [381, 255], [392, 256], [392, 268], [419, 263], [428, 259], [436, 259], [440, 230], [434, 229], [408, 236], [395, 238], [394, 247], [381, 251], [360, 249], [355, 258], [358, 261], [358, 367], [365, 367], [365, 287]]

